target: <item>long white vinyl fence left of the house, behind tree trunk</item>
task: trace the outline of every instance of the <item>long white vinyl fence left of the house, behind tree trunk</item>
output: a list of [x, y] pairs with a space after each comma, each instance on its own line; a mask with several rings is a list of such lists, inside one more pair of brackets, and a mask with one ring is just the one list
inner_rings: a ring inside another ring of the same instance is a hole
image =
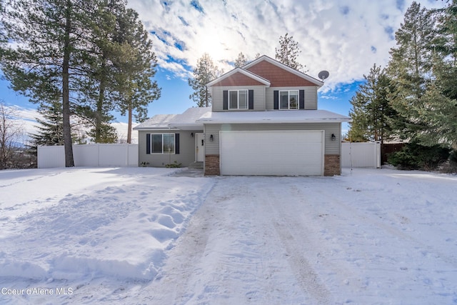
[[[82, 144], [73, 146], [74, 166], [138, 166], [138, 144]], [[39, 146], [38, 168], [65, 166], [64, 146]]]

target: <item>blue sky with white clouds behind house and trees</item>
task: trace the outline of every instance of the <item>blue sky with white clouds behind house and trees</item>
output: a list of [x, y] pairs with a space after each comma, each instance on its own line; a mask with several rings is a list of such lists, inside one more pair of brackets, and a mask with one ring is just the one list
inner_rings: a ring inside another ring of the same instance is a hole
[[[319, 90], [319, 109], [348, 114], [349, 100], [373, 64], [386, 66], [395, 31], [411, 5], [408, 0], [130, 0], [151, 34], [158, 59], [156, 81], [161, 98], [149, 106], [149, 116], [177, 114], [194, 102], [187, 79], [204, 53], [224, 71], [233, 69], [241, 51], [248, 58], [260, 53], [274, 58], [279, 36], [298, 42], [298, 61], [316, 77], [330, 77]], [[418, 1], [428, 9], [446, 1]], [[0, 81], [0, 99], [8, 105], [35, 109], [23, 96]], [[116, 121], [126, 117], [116, 114]]]

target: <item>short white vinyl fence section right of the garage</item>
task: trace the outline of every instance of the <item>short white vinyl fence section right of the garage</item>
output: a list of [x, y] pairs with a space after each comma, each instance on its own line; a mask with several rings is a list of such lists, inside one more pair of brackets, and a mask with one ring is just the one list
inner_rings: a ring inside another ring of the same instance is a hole
[[381, 143], [341, 143], [341, 167], [381, 168]]

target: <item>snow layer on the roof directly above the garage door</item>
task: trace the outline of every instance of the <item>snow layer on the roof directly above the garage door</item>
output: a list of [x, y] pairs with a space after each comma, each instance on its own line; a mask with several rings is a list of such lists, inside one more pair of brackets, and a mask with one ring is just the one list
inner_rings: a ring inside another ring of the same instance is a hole
[[326, 110], [276, 110], [244, 112], [208, 112], [198, 120], [201, 124], [221, 123], [341, 123], [351, 118]]

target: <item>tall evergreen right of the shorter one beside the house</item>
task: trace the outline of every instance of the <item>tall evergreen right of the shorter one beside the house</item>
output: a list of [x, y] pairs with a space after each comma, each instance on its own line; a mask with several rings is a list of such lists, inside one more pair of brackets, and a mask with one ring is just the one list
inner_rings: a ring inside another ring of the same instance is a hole
[[395, 34], [397, 46], [391, 49], [388, 74], [396, 83], [391, 105], [399, 116], [392, 124], [401, 139], [412, 139], [426, 128], [418, 109], [433, 76], [430, 47], [436, 34], [433, 26], [433, 15], [414, 1]]

